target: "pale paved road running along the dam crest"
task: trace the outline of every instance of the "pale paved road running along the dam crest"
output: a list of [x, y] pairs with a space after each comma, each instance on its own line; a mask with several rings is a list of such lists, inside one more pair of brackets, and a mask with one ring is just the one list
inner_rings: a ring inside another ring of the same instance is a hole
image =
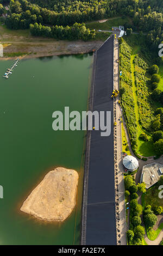
[[[120, 90], [119, 83], [119, 63], [117, 60], [119, 59], [119, 45], [118, 45], [118, 35], [120, 33], [116, 33], [116, 39], [114, 40], [114, 89]], [[124, 201], [124, 180], [122, 173], [122, 133], [121, 133], [121, 116], [122, 112], [120, 109], [120, 105], [118, 104], [119, 96], [114, 101], [115, 108], [114, 113], [116, 114], [115, 121], [117, 125], [115, 127], [115, 156], [117, 157], [116, 164], [116, 180], [117, 180], [117, 188], [116, 191], [116, 200], [118, 200], [117, 212], [119, 212], [117, 220], [117, 228], [118, 228], [118, 237], [117, 240], [121, 245], [127, 245], [126, 241], [126, 210], [125, 210], [125, 201]], [[115, 165], [116, 165], [115, 164]]]

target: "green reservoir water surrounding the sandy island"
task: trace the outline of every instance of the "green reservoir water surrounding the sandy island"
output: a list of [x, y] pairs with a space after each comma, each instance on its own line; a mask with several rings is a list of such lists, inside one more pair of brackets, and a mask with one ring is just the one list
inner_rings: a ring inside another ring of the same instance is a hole
[[[0, 75], [12, 63], [1, 61]], [[89, 55], [36, 58], [22, 60], [8, 80], [0, 76], [1, 245], [80, 243], [85, 133], [53, 131], [52, 113], [86, 110], [91, 65]], [[56, 166], [78, 171], [77, 206], [63, 223], [41, 222], [20, 207]]]

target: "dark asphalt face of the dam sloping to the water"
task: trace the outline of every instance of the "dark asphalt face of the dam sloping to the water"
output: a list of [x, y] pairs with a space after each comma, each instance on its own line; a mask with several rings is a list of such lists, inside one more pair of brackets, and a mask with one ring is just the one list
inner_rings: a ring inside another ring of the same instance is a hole
[[[114, 117], [111, 94], [114, 87], [114, 36], [95, 52], [92, 72], [92, 111], [111, 111], [111, 135], [101, 131], [87, 135], [82, 244], [116, 245]], [[90, 96], [91, 97], [91, 96]], [[90, 99], [91, 105], [91, 99]], [[95, 127], [96, 128], [96, 127]], [[89, 133], [89, 132], [88, 132]], [[90, 137], [90, 145], [89, 145]], [[86, 170], [87, 166], [87, 170]], [[85, 204], [85, 205], [84, 205]]]

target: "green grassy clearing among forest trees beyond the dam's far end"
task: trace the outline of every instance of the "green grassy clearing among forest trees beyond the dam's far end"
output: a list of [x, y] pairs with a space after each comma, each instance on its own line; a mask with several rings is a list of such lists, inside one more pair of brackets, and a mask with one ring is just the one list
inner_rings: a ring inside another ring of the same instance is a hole
[[86, 23], [86, 27], [90, 29], [101, 29], [101, 30], [111, 30], [111, 27], [117, 27], [117, 26], [124, 26], [126, 23], [132, 24], [132, 21], [129, 17], [126, 17], [125, 19], [122, 19], [122, 17], [114, 17], [108, 19], [108, 21], [105, 21], [103, 23], [100, 23], [98, 21], [94, 22], [88, 22]]

